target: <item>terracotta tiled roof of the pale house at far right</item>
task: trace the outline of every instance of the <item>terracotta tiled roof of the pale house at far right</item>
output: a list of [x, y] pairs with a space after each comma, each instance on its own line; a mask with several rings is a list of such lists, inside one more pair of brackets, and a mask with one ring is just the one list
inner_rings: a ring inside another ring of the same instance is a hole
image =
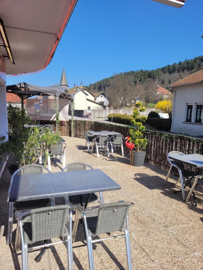
[[176, 87], [176, 86], [181, 86], [181, 85], [189, 85], [189, 84], [194, 84], [194, 83], [201, 83], [203, 82], [203, 69], [196, 71], [186, 77], [183, 77], [182, 79], [171, 83], [168, 85], [168, 87]]

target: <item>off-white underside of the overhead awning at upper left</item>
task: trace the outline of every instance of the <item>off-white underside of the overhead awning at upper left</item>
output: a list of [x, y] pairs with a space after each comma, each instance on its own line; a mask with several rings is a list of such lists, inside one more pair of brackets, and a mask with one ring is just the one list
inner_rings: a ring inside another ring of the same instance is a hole
[[[65, 21], [66, 26], [77, 1], [1, 1], [0, 18], [4, 22], [15, 61], [14, 65], [6, 60], [6, 74], [35, 72], [47, 65], [63, 23]], [[3, 55], [7, 55], [5, 48], [0, 49]]]

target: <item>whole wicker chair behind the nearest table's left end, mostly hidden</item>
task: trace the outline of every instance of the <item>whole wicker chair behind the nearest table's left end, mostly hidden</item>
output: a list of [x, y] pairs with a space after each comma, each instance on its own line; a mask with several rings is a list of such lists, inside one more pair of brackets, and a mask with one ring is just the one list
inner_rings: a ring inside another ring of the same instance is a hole
[[[50, 171], [38, 164], [32, 164], [32, 165], [26, 165], [18, 169], [17, 171], [14, 172], [14, 174], [11, 177], [11, 182], [8, 190], [8, 197], [10, 197], [11, 193], [11, 188], [12, 188], [12, 183], [15, 175], [32, 175], [32, 174], [39, 174], [39, 173], [44, 173], [44, 170]], [[45, 199], [38, 199], [38, 200], [31, 200], [31, 201], [22, 201], [22, 202], [10, 202], [9, 203], [9, 215], [8, 215], [8, 234], [7, 234], [7, 244], [11, 244], [12, 240], [12, 231], [13, 231], [13, 212], [15, 210], [28, 210], [28, 209], [33, 209], [33, 208], [39, 208], [39, 207], [44, 207], [47, 205], [50, 201], [45, 200]], [[54, 201], [51, 200], [51, 203], [53, 204]]]

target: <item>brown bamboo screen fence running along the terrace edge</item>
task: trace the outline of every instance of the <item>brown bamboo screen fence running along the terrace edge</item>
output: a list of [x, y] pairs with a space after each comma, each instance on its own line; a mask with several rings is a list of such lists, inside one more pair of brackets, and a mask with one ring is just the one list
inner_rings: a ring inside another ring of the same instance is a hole
[[[35, 122], [32, 121], [34, 124]], [[40, 121], [40, 124], [55, 124], [55, 121]], [[85, 131], [109, 130], [119, 132], [124, 137], [124, 153], [129, 154], [125, 146], [125, 137], [129, 136], [129, 127], [107, 123], [75, 120], [74, 137], [85, 138]], [[69, 121], [61, 121], [60, 136], [71, 136]], [[169, 169], [167, 154], [170, 151], [180, 151], [184, 154], [198, 153], [203, 155], [203, 140], [181, 135], [146, 130], [144, 137], [148, 140], [146, 147], [146, 162], [163, 170]]]

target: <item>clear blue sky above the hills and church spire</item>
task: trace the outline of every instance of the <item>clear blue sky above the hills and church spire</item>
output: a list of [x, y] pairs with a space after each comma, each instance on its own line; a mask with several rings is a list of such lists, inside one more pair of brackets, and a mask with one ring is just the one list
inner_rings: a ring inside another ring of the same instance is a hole
[[48, 67], [7, 77], [6, 84], [59, 83], [63, 62], [73, 87], [191, 59], [202, 55], [202, 13], [202, 0], [187, 0], [180, 9], [150, 0], [78, 0]]

